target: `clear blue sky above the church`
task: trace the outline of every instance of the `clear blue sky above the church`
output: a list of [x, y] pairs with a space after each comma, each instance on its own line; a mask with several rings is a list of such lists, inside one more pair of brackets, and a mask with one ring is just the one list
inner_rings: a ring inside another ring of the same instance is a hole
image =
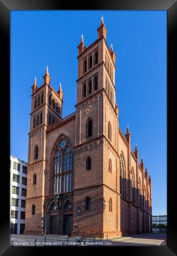
[[151, 175], [153, 215], [166, 210], [166, 11], [11, 11], [11, 155], [28, 161], [31, 86], [48, 70], [64, 93], [63, 117], [75, 111], [77, 46], [98, 38], [101, 15], [116, 55], [119, 124]]

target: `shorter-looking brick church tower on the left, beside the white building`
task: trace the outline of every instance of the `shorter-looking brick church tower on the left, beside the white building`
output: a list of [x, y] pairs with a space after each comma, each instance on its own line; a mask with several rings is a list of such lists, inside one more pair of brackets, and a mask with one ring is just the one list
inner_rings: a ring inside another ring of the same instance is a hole
[[62, 119], [63, 92], [61, 84], [56, 93], [50, 85], [48, 67], [43, 84], [37, 81], [32, 88], [30, 133], [28, 149], [28, 182], [24, 234], [41, 234], [43, 230], [43, 204], [46, 165], [46, 129]]

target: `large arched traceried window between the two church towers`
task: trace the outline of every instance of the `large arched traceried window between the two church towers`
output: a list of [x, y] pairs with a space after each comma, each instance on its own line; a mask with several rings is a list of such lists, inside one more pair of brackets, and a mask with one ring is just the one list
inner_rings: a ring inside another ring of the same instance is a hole
[[61, 139], [53, 157], [53, 194], [72, 191], [72, 148]]

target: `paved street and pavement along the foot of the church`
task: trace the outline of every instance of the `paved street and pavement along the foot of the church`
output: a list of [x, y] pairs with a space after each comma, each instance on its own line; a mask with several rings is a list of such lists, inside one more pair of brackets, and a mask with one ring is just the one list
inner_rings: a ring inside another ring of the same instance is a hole
[[[46, 246], [80, 246], [74, 243], [76, 237], [46, 235]], [[86, 238], [83, 246], [160, 246], [167, 239], [166, 234], [143, 234], [111, 239]], [[44, 246], [44, 236], [11, 234], [10, 246]]]

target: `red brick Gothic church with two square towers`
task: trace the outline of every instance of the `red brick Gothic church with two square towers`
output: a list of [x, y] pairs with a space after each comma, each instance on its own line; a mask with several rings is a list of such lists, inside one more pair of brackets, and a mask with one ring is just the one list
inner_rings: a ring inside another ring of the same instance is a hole
[[[98, 39], [78, 48], [76, 112], [62, 116], [48, 67], [32, 86], [24, 234], [117, 237], [152, 230], [151, 178], [119, 127], [115, 60], [101, 18]], [[61, 195], [59, 207], [55, 193]]]

